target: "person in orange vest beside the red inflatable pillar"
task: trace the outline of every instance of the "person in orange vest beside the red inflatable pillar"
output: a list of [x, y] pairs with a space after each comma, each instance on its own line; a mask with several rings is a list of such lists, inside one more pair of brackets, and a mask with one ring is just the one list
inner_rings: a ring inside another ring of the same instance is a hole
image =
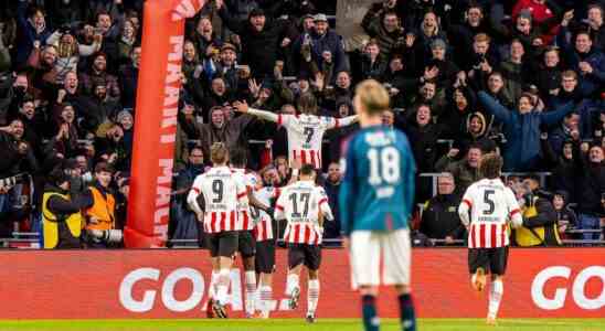
[[109, 184], [114, 170], [106, 162], [95, 167], [95, 181], [82, 196], [86, 221], [85, 243], [89, 248], [109, 248], [121, 244], [121, 231], [116, 229], [116, 199]]

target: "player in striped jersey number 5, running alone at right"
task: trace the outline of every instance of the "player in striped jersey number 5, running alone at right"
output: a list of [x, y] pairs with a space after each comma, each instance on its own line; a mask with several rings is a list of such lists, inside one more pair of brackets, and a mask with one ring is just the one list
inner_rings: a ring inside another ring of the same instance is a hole
[[468, 229], [468, 269], [473, 287], [482, 291], [487, 273], [491, 275], [488, 324], [496, 323], [505, 292], [502, 276], [508, 260], [508, 220], [514, 227], [523, 224], [514, 193], [500, 180], [501, 169], [500, 156], [484, 156], [479, 163], [484, 179], [468, 186], [458, 207], [460, 220]]

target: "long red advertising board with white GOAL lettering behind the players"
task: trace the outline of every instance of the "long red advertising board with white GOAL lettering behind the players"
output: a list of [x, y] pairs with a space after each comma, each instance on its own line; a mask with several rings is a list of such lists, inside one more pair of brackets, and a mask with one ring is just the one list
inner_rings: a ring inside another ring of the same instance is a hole
[[[321, 318], [359, 316], [342, 249], [323, 250]], [[487, 293], [470, 289], [466, 249], [414, 249], [412, 282], [420, 317], [481, 318]], [[605, 248], [512, 249], [500, 316], [602, 318], [605, 316]], [[284, 297], [286, 250], [279, 249], [274, 317], [288, 311]], [[205, 250], [2, 252], [0, 319], [202, 318], [210, 266]], [[243, 317], [243, 286], [232, 273], [232, 317]], [[306, 282], [306, 281], [302, 281]], [[380, 313], [396, 317], [392, 291]]]

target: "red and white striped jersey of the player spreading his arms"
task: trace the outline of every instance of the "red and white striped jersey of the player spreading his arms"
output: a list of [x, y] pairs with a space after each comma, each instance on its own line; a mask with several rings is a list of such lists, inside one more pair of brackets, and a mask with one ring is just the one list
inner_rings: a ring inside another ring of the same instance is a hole
[[321, 169], [321, 143], [326, 130], [348, 126], [357, 119], [355, 116], [335, 118], [316, 115], [277, 116], [277, 124], [288, 132], [288, 158], [290, 164], [299, 160], [300, 164], [312, 164]]

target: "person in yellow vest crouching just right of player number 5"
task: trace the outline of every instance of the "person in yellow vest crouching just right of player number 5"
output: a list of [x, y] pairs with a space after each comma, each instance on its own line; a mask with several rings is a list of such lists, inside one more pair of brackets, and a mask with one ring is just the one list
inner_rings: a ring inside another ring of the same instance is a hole
[[523, 226], [514, 231], [517, 245], [523, 247], [561, 245], [556, 212], [548, 199], [528, 194], [521, 212]]

